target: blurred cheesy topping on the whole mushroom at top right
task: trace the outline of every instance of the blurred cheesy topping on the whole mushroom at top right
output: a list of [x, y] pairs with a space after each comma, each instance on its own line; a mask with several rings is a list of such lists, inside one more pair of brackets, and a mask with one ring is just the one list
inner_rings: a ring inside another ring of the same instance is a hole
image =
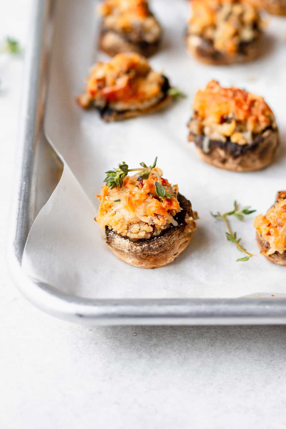
[[241, 42], [259, 33], [258, 12], [247, 1], [193, 0], [192, 7], [189, 34], [211, 40], [215, 50], [227, 55], [237, 54]]

